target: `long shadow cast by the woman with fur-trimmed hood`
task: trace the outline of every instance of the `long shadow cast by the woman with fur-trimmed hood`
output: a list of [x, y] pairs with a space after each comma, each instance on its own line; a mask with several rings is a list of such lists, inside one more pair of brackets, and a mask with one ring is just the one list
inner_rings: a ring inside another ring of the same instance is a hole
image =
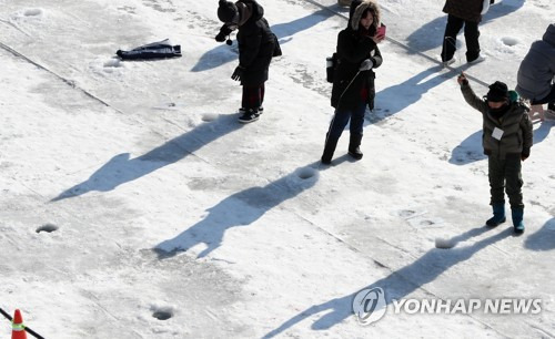
[[[345, 162], [347, 156], [339, 157], [334, 166]], [[160, 259], [175, 256], [181, 251], [205, 244], [206, 248], [198, 255], [202, 258], [221, 246], [225, 232], [232, 227], [248, 226], [261, 218], [266, 212], [291, 199], [316, 184], [320, 162], [296, 168], [275, 182], [263, 187], [251, 187], [238, 192], [218, 205], [206, 209], [209, 215], [172, 239], [157, 245], [153, 250]]]

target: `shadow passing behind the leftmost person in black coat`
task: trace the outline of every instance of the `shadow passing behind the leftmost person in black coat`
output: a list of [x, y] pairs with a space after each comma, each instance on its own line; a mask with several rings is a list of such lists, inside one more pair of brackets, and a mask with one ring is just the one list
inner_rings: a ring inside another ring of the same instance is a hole
[[[336, 4], [331, 6], [330, 8], [337, 7]], [[295, 19], [293, 21], [286, 23], [279, 23], [271, 27], [272, 31], [278, 35], [278, 38], [282, 39], [285, 37], [291, 37], [301, 31], [307, 30], [319, 22], [322, 22], [329, 18], [333, 17], [333, 13], [330, 10], [321, 9], [315, 11], [312, 14], [309, 14], [303, 18]], [[215, 37], [216, 32], [214, 32]], [[280, 44], [284, 44], [291, 41], [292, 38], [285, 40], [280, 40]], [[238, 59], [238, 49], [236, 42], [234, 47], [229, 47], [226, 44], [221, 44], [208, 52], [205, 52], [196, 62], [196, 64], [191, 69], [191, 72], [202, 72], [215, 69], [222, 64], [228, 62], [235, 61]]]

